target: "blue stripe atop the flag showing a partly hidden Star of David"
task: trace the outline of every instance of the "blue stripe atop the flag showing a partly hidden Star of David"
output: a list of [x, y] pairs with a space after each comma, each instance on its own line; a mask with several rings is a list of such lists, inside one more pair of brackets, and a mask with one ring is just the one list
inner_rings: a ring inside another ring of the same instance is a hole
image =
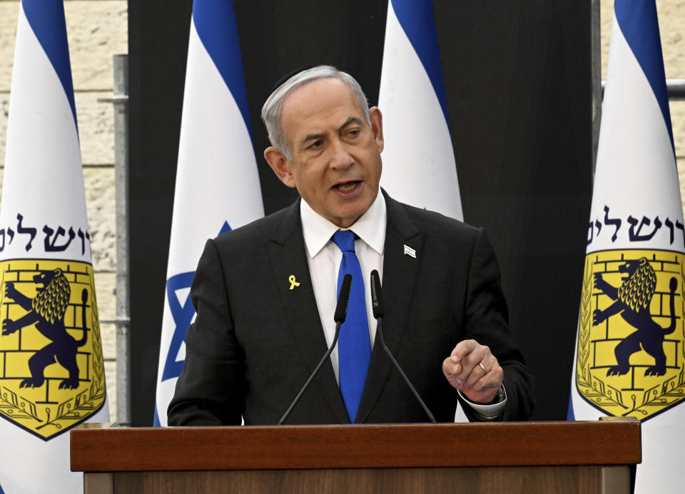
[[254, 141], [233, 0], [195, 0], [193, 21], [205, 50], [243, 114], [250, 139]]

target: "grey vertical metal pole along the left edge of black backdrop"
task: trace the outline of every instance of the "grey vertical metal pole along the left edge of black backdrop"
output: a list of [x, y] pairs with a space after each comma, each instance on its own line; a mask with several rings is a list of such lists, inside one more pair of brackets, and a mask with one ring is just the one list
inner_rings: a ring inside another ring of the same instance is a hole
[[116, 420], [131, 423], [131, 326], [128, 276], [128, 55], [114, 57], [114, 180], [116, 197]]

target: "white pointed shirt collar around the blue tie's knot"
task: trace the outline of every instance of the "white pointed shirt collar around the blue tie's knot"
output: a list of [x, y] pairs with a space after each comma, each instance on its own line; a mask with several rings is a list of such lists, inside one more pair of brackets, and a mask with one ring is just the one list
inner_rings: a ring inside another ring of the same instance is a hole
[[[309, 257], [315, 257], [325, 247], [330, 237], [340, 228], [315, 212], [304, 199], [300, 201], [300, 217], [302, 218], [302, 233]], [[348, 230], [355, 232], [357, 237], [360, 237], [369, 247], [382, 255], [385, 247], [386, 225], [385, 197], [379, 190], [371, 207]]]

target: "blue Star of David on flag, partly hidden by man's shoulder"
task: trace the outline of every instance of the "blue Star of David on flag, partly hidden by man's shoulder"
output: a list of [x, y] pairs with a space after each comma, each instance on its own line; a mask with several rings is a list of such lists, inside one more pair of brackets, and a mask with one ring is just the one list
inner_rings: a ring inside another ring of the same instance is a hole
[[[223, 226], [219, 231], [219, 235], [225, 232], [230, 232], [230, 226], [228, 225], [228, 222], [223, 222]], [[181, 305], [178, 297], [176, 297], [176, 291], [184, 288], [190, 288], [191, 284], [193, 283], [194, 276], [194, 271], [188, 271], [185, 273], [175, 274], [166, 281], [166, 299], [169, 304], [169, 309], [171, 310], [173, 324], [176, 327], [173, 330], [169, 351], [166, 354], [166, 361], [164, 362], [164, 370], [162, 372], [162, 381], [178, 377], [181, 375], [181, 371], [183, 371], [184, 360], [176, 360], [176, 357], [178, 356], [178, 351], [181, 350], [181, 344], [186, 343], [186, 331], [188, 331], [188, 326], [191, 325], [191, 321], [195, 316], [195, 308], [193, 307], [193, 302], [191, 301], [190, 292], [188, 292], [186, 301], [183, 302], [183, 305]]]

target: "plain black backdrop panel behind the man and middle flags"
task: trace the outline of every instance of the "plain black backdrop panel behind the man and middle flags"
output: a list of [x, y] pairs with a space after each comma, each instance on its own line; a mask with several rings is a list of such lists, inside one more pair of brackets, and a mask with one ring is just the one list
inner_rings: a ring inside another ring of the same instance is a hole
[[[566, 416], [591, 198], [590, 2], [434, 0], [465, 220], [489, 232], [537, 420]], [[289, 205], [259, 111], [330, 63], [377, 101], [387, 0], [236, 0], [265, 212]], [[129, 0], [131, 422], [151, 425], [191, 0]], [[381, 108], [382, 109], [382, 108]], [[392, 193], [392, 191], [390, 191]], [[439, 363], [438, 363], [439, 364]]]

